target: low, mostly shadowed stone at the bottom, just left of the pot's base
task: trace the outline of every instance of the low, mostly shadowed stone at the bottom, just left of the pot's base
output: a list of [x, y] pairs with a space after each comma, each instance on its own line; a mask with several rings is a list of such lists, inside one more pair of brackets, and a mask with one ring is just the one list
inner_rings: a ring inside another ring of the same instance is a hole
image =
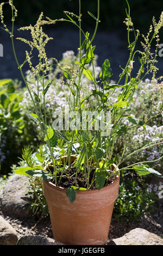
[[18, 239], [16, 245], [64, 245], [64, 243], [40, 235], [24, 235]]

